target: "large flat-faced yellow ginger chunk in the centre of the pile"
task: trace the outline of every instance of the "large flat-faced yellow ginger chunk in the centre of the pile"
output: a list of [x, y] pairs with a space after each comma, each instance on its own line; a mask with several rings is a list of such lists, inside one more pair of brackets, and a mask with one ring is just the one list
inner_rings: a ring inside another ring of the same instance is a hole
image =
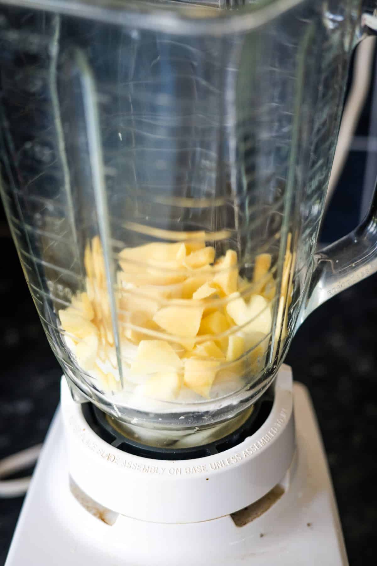
[[170, 334], [194, 337], [198, 333], [203, 310], [204, 307], [196, 305], [163, 307], [153, 320]]

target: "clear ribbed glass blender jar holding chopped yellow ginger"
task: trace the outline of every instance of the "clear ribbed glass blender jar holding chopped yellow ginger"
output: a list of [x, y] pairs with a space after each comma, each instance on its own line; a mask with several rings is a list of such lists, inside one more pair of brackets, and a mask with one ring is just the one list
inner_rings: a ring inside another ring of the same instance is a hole
[[[144, 444], [240, 427], [313, 308], [358, 0], [1, 2], [1, 194], [75, 400]], [[27, 16], [27, 17], [26, 17]]]

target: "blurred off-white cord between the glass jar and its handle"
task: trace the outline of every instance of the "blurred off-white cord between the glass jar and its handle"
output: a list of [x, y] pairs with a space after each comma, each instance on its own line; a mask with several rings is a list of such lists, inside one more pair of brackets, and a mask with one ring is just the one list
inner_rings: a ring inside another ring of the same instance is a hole
[[352, 85], [341, 118], [330, 181], [328, 182], [325, 211], [330, 204], [340, 174], [343, 171], [358, 119], [369, 91], [375, 45], [376, 38], [367, 37], [359, 44], [356, 51]]

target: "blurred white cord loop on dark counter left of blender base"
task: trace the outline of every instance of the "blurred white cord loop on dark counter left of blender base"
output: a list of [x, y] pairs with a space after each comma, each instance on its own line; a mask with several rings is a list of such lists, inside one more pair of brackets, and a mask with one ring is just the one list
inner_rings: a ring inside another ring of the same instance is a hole
[[34, 464], [38, 459], [41, 448], [42, 444], [37, 444], [0, 461], [0, 498], [18, 497], [27, 492], [31, 481], [30, 476], [20, 479], [1, 478]]

